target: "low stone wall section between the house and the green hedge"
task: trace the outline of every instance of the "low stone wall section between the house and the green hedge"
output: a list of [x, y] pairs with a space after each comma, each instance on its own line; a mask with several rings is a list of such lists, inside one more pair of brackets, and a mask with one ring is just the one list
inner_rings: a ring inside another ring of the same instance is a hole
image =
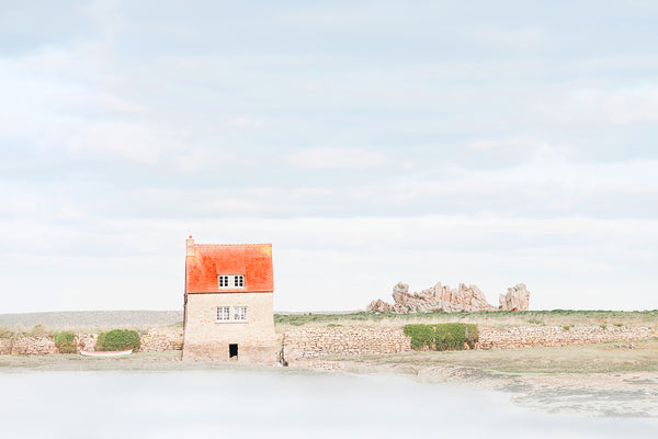
[[333, 353], [395, 353], [408, 350], [411, 350], [411, 344], [401, 328], [299, 328], [283, 335], [283, 357], [286, 361]]

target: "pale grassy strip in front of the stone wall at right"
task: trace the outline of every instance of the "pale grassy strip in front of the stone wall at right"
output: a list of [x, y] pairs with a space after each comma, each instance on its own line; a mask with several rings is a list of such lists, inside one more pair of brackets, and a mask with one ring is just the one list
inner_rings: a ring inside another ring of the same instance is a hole
[[463, 365], [525, 374], [658, 372], [658, 339], [557, 348], [332, 356], [330, 359], [371, 365]]

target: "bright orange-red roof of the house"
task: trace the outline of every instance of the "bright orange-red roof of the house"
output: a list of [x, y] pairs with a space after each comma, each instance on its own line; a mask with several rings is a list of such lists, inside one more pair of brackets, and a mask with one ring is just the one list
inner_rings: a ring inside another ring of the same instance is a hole
[[[188, 240], [185, 292], [253, 293], [274, 291], [271, 244], [193, 243], [192, 239]], [[217, 279], [219, 274], [243, 274], [245, 288], [219, 290]]]

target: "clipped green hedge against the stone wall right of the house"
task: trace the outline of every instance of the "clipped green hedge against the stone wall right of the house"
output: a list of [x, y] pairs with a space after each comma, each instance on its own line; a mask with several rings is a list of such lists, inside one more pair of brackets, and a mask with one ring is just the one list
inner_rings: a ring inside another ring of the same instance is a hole
[[478, 340], [477, 325], [446, 323], [438, 325], [406, 325], [405, 335], [411, 337], [413, 350], [463, 350], [474, 349]]

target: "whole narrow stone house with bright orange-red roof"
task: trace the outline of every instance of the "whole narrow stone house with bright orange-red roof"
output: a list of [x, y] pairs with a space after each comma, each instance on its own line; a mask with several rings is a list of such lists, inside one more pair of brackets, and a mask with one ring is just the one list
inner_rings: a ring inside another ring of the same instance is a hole
[[186, 240], [183, 360], [274, 363], [271, 244]]

